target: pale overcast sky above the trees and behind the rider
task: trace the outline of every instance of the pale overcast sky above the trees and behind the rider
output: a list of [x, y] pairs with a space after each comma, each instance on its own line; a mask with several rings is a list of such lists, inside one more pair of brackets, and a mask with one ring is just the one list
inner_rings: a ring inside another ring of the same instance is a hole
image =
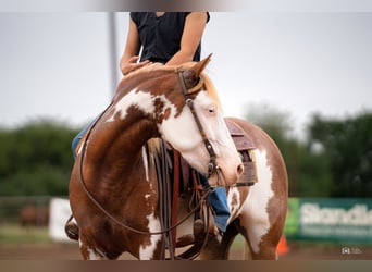
[[[114, 22], [113, 62], [108, 13], [0, 13], [0, 126], [39, 118], [80, 126], [98, 115], [122, 77], [128, 13]], [[224, 114], [270, 106], [300, 135], [314, 113], [372, 110], [371, 25], [371, 12], [211, 12], [202, 57], [213, 53], [207, 73]]]

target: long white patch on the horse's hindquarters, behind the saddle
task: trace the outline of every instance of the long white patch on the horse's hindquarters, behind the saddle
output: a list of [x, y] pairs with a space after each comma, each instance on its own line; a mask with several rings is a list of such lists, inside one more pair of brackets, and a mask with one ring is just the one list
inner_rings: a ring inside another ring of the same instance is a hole
[[268, 205], [274, 196], [272, 190], [272, 170], [268, 164], [266, 150], [256, 150], [258, 183], [250, 187], [248, 197], [241, 207], [241, 224], [248, 232], [250, 245], [259, 252], [262, 236], [270, 228]]

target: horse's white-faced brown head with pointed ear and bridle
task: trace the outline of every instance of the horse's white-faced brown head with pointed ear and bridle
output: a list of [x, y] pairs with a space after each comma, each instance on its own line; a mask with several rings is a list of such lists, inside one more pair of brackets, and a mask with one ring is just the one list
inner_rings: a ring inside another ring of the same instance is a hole
[[202, 74], [210, 57], [177, 67], [176, 87], [165, 94], [158, 129], [210, 185], [233, 185], [243, 173], [241, 160], [223, 120], [218, 96]]

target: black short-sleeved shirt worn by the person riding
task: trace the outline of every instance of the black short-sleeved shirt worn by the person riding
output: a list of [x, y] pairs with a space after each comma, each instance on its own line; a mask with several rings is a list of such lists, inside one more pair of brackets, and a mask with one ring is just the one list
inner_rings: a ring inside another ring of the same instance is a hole
[[[181, 47], [185, 21], [190, 12], [165, 12], [157, 16], [156, 12], [131, 12], [139, 33], [142, 52], [140, 61], [168, 62]], [[207, 13], [207, 22], [209, 13]], [[199, 44], [194, 61], [200, 60], [201, 45]]]

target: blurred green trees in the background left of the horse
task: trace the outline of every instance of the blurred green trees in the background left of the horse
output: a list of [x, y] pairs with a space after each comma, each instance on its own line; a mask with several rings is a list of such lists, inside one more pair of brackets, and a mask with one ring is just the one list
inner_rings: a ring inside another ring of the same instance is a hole
[[76, 133], [52, 120], [0, 129], [0, 195], [66, 195]]

